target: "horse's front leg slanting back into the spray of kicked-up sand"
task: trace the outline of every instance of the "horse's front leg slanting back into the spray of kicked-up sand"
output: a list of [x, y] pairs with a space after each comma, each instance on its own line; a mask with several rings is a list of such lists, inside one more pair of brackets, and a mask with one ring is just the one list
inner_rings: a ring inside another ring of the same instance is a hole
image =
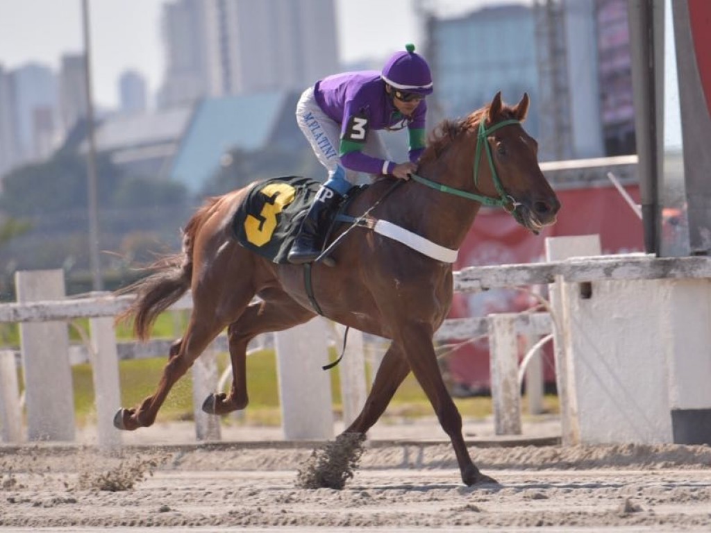
[[390, 400], [397, 391], [397, 387], [400, 387], [400, 384], [409, 373], [410, 365], [407, 364], [402, 351], [395, 343], [391, 343], [390, 348], [383, 355], [382, 362], [380, 362], [380, 367], [378, 367], [378, 372], [376, 372], [373, 380], [373, 387], [370, 388], [370, 394], [365, 399], [363, 409], [343, 433], [367, 433], [385, 412], [387, 405], [390, 404]]

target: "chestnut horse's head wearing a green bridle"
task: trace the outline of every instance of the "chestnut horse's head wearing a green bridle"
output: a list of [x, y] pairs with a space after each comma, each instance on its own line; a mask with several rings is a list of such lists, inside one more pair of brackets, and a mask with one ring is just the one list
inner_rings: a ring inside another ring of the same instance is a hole
[[528, 113], [528, 94], [513, 107], [496, 93], [479, 113], [474, 184], [488, 205], [502, 205], [532, 232], [555, 222], [560, 209], [555, 192], [538, 166], [538, 143], [520, 125]]

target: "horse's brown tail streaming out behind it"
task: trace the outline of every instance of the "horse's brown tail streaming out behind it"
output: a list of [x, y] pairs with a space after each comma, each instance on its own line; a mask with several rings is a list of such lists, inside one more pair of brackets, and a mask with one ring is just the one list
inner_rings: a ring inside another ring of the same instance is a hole
[[133, 316], [134, 335], [139, 340], [146, 340], [156, 318], [190, 289], [195, 237], [217, 201], [218, 198], [212, 198], [188, 221], [183, 230], [181, 253], [162, 257], [148, 267], [153, 274], [117, 291], [117, 294], [136, 294], [129, 308], [119, 314], [116, 321], [128, 321]]

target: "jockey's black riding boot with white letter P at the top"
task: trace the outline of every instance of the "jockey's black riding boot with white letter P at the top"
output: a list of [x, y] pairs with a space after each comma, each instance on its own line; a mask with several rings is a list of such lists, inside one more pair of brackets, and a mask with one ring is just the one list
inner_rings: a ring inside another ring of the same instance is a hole
[[319, 257], [324, 247], [328, 223], [331, 222], [331, 215], [340, 201], [341, 195], [335, 190], [321, 186], [309, 212], [301, 221], [299, 235], [287, 256], [289, 263], [310, 263]]

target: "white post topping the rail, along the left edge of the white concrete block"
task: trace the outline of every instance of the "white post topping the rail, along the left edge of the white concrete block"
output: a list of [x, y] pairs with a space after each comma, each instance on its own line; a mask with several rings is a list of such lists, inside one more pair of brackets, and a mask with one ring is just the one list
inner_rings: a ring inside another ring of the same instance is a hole
[[[599, 235], [579, 235], [576, 237], [547, 237], [545, 239], [545, 260], [565, 261], [570, 257], [589, 257], [599, 255]], [[555, 284], [548, 286], [550, 307], [552, 309], [553, 354], [555, 359], [555, 382], [560, 402], [560, 429], [562, 442], [565, 445], [577, 444], [580, 440], [580, 429], [577, 425], [577, 406], [574, 394], [574, 379], [569, 355], [565, 351], [566, 335], [563, 316], [563, 281], [562, 276], [556, 276]]]

